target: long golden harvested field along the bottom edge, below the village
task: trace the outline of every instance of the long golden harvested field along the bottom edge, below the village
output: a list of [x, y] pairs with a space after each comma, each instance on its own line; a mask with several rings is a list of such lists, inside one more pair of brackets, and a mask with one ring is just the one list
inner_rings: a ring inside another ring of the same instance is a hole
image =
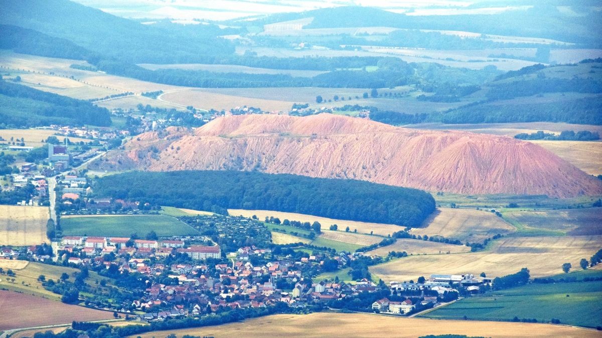
[[446, 321], [399, 318], [367, 313], [310, 313], [272, 315], [214, 327], [154, 331], [143, 338], [175, 333], [205, 337], [408, 337], [429, 334], [464, 334], [483, 337], [597, 337], [595, 330], [566, 325], [514, 322]]

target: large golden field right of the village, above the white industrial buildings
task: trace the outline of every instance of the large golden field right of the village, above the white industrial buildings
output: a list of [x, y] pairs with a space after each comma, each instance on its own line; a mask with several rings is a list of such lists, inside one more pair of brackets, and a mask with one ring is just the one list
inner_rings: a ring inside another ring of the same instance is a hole
[[477, 253], [411, 256], [370, 267], [385, 281], [403, 281], [431, 274], [480, 274], [488, 277], [529, 268], [531, 277], [562, 273], [563, 263], [579, 267], [600, 250], [602, 236], [514, 237], [495, 241]]

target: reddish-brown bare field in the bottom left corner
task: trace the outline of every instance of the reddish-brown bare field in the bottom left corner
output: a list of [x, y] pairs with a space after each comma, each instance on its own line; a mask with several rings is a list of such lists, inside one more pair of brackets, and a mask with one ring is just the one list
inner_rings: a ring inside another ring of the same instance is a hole
[[113, 313], [108, 311], [67, 305], [6, 290], [0, 290], [0, 309], [3, 314], [0, 316], [0, 330], [113, 318]]

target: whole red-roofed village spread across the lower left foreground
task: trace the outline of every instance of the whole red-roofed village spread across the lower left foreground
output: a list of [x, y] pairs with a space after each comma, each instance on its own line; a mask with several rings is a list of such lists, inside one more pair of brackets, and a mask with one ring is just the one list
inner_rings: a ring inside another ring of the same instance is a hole
[[335, 262], [335, 269], [341, 269], [364, 254], [307, 254], [278, 245], [250, 245], [227, 252], [208, 236], [152, 240], [63, 236], [55, 252], [58, 257], [53, 259], [47, 249], [36, 246], [20, 251], [3, 248], [0, 256], [25, 256], [46, 263], [54, 260], [55, 264], [89, 269], [117, 280], [140, 276], [144, 281], [143, 286], [138, 284], [140, 292], [124, 294], [114, 303], [104, 301], [104, 295], [84, 297], [84, 302], [148, 322], [279, 303], [299, 311], [330, 308], [408, 316], [455, 301], [459, 295], [480, 293], [492, 282], [491, 278], [468, 274], [433, 274], [389, 284], [376, 284], [368, 278], [317, 280], [316, 273], [323, 271], [324, 265]]

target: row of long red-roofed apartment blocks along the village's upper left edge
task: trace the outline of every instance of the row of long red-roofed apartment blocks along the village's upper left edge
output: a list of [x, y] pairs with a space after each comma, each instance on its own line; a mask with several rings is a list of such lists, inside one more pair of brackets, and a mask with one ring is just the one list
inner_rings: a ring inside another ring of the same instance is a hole
[[93, 263], [94, 257], [102, 262], [104, 255], [111, 253], [116, 256], [129, 254], [130, 257], [136, 258], [167, 257], [175, 253], [184, 253], [197, 260], [222, 257], [219, 245], [213, 247], [194, 245], [185, 248], [182, 239], [155, 241], [132, 240], [127, 237], [64, 236], [58, 247], [58, 251], [61, 250], [80, 253], [77, 257], [69, 257], [69, 263], [74, 264]]

